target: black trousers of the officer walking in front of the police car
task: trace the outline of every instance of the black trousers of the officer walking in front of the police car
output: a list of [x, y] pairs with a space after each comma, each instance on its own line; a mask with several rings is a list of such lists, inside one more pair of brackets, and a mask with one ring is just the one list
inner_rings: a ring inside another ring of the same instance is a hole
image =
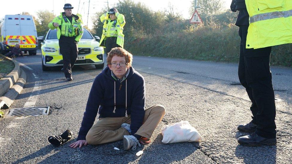
[[78, 46], [74, 40], [59, 40], [60, 53], [63, 56], [63, 72], [65, 77], [72, 76], [72, 68], [77, 59]]

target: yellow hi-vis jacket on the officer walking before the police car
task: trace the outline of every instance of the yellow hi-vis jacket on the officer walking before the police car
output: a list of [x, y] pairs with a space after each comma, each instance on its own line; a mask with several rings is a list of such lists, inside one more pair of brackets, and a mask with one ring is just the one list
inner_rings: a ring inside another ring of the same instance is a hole
[[[57, 29], [58, 39], [60, 39], [61, 35], [68, 36], [68, 37], [76, 36], [75, 41], [79, 42], [83, 35], [82, 17], [80, 14], [76, 14], [76, 15], [72, 14], [72, 15], [73, 15], [72, 23], [69, 21], [69, 19], [66, 18], [65, 12], [63, 12], [63, 13], [60, 13], [59, 16], [54, 18], [52, 22], [48, 24], [48, 27], [51, 30], [54, 30], [55, 28]], [[58, 23], [59, 25], [61, 25], [61, 29], [59, 26], [55, 27], [53, 23]]]

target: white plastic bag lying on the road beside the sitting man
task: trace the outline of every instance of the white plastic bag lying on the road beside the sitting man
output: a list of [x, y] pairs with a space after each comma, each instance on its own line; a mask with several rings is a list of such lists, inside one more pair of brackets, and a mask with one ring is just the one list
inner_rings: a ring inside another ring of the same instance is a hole
[[165, 125], [161, 129], [163, 143], [198, 142], [202, 140], [199, 132], [188, 121]]

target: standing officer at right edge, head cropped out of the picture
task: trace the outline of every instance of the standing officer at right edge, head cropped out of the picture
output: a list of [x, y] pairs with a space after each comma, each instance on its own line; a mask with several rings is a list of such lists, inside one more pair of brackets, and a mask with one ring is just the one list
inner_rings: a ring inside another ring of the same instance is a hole
[[[232, 0], [233, 12], [239, 11], [240, 53], [238, 77], [251, 101], [252, 120], [238, 125], [250, 135], [238, 138], [244, 146], [275, 145], [276, 107], [270, 71], [271, 46], [292, 42], [291, 0]], [[291, 23], [290, 23], [291, 27]]]

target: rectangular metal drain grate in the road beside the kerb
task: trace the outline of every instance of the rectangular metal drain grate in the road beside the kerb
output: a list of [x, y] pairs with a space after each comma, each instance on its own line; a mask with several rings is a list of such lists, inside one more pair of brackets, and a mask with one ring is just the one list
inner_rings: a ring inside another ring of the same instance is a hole
[[10, 109], [5, 118], [25, 117], [25, 116], [46, 116], [50, 107], [31, 107], [31, 108], [13, 108]]

